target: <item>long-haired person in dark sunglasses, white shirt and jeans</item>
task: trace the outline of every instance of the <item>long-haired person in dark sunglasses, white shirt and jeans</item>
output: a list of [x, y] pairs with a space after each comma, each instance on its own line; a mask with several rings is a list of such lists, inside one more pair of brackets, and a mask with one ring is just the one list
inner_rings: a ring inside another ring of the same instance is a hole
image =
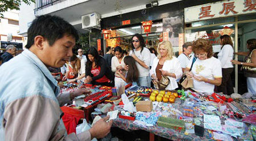
[[144, 48], [145, 43], [141, 35], [135, 34], [131, 37], [131, 46], [133, 50], [130, 52], [130, 56], [136, 61], [136, 66], [139, 70], [138, 86], [150, 87], [151, 78], [148, 75], [150, 71], [150, 50]]

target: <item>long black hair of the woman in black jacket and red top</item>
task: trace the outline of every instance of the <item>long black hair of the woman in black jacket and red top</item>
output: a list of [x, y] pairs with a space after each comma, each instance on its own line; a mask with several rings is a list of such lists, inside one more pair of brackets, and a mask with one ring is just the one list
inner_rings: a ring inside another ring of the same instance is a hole
[[87, 62], [86, 62], [85, 68], [90, 70], [92, 68], [92, 62], [88, 58], [88, 54], [94, 57], [96, 67], [100, 64], [100, 56], [98, 55], [96, 48], [93, 48], [93, 47], [89, 48], [88, 52], [86, 53]]

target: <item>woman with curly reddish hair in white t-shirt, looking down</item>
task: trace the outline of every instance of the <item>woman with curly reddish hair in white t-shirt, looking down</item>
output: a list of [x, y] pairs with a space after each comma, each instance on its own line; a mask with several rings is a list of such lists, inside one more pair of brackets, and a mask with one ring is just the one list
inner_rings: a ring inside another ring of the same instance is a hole
[[192, 44], [192, 50], [197, 57], [191, 65], [193, 59], [188, 63], [184, 74], [188, 78], [193, 78], [193, 88], [197, 92], [206, 92], [212, 94], [214, 86], [220, 86], [222, 72], [221, 62], [213, 57], [212, 44], [207, 39], [198, 39]]

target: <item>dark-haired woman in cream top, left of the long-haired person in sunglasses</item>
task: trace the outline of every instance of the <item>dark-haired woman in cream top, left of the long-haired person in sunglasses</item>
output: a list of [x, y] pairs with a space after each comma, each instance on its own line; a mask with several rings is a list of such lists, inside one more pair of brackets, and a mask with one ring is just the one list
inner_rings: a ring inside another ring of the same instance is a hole
[[125, 62], [123, 62], [123, 59], [125, 58], [125, 56], [123, 55], [123, 50], [120, 46], [115, 47], [114, 54], [115, 56], [112, 57], [112, 60], [111, 60], [111, 68], [112, 68], [112, 71], [115, 72], [115, 79], [114, 79], [115, 87], [118, 88], [118, 91], [120, 89], [118, 93], [120, 93], [121, 91], [123, 93], [125, 92], [125, 81], [121, 78], [121, 76], [117, 72], [123, 71], [124, 73], [126, 73]]

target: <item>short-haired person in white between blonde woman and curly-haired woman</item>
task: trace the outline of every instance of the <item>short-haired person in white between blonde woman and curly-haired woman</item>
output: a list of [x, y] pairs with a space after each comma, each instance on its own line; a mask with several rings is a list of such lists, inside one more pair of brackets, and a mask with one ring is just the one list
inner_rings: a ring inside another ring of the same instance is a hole
[[189, 60], [190, 60], [190, 54], [192, 53], [192, 43], [191, 42], [185, 42], [183, 47], [183, 53], [177, 57], [180, 61], [180, 65], [182, 68], [182, 72], [184, 72], [185, 68], [188, 66]]

